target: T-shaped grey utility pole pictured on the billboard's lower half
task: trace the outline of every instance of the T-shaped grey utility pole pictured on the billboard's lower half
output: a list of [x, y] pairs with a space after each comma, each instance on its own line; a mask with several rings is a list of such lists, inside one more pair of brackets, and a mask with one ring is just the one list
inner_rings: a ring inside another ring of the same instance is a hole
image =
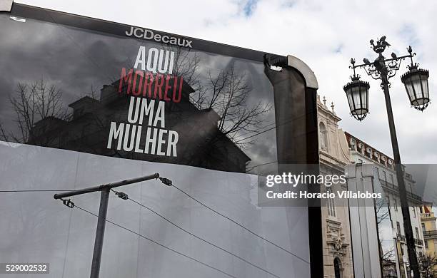
[[[55, 194], [53, 197], [56, 200], [62, 200], [64, 205], [67, 207], [74, 207], [74, 203], [71, 200], [63, 200], [65, 197], [71, 197], [75, 195], [86, 194], [90, 192], [100, 191], [100, 207], [99, 207], [99, 218], [97, 220], [97, 229], [96, 229], [96, 239], [94, 241], [94, 252], [93, 252], [93, 260], [91, 264], [91, 275], [90, 278], [99, 278], [100, 274], [100, 262], [101, 262], [101, 250], [103, 248], [104, 235], [105, 235], [105, 225], [106, 225], [106, 213], [108, 212], [108, 202], [109, 202], [109, 191], [114, 187], [119, 187], [122, 185], [130, 185], [131, 183], [136, 182], [144, 182], [146, 180], [158, 179], [161, 180], [164, 185], [171, 186], [171, 180], [166, 179], [164, 177], [159, 177], [159, 173], [155, 173], [154, 175], [146, 175], [144, 177], [136, 177], [130, 180], [121, 180], [119, 182], [108, 183], [106, 185], [98, 185], [94, 187], [87, 187], [81, 190], [74, 190], [69, 192], [62, 192], [59, 194]], [[127, 195], [124, 193], [119, 193], [119, 197], [122, 199], [127, 199]]]

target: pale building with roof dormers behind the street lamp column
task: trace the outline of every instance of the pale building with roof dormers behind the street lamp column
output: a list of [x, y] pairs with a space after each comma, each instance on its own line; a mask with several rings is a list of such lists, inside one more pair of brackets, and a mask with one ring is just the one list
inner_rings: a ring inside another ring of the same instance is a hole
[[[391, 222], [391, 234], [393, 239], [394, 257], [386, 258], [391, 264], [396, 263], [396, 276], [387, 274], [387, 277], [409, 277], [408, 276], [408, 254], [406, 246], [406, 237], [403, 229], [403, 215], [401, 211], [401, 200], [399, 197], [398, 182], [396, 180], [396, 172], [394, 169], [394, 161], [351, 135], [345, 133], [346, 140], [351, 150], [351, 160], [353, 163], [373, 163], [376, 175], [379, 177], [379, 183], [383, 189], [386, 197], [386, 205], [388, 207], [388, 214]], [[422, 199], [414, 192], [415, 181], [411, 174], [405, 174], [405, 184], [408, 197], [408, 205], [410, 209], [411, 225], [413, 227], [413, 236], [416, 243], [416, 252], [418, 257], [424, 254], [423, 233], [421, 225], [421, 205]], [[386, 240], [386, 239], [385, 239]], [[384, 257], [384, 254], [382, 254]], [[388, 263], [389, 265], [389, 263]], [[394, 264], [393, 264], [394, 267]]]

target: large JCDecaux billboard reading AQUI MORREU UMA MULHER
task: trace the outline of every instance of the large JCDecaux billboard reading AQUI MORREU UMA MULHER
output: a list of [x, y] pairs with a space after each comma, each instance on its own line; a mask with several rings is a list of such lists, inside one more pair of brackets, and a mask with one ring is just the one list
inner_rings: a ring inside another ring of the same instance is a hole
[[88, 275], [99, 194], [54, 192], [159, 173], [111, 196], [101, 277], [318, 277], [320, 208], [257, 204], [318, 163], [306, 65], [21, 4], [0, 24], [0, 262]]

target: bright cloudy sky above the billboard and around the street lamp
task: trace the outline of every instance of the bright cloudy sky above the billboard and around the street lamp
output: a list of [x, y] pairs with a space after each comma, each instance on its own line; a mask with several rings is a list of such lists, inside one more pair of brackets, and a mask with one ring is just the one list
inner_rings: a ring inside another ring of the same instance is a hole
[[[411, 45], [416, 61], [430, 71], [431, 100], [436, 97], [437, 5], [433, 1], [49, 1], [17, 2], [124, 24], [218, 41], [301, 58], [318, 78], [319, 94], [335, 104], [341, 128], [391, 155], [383, 93], [370, 81], [370, 114], [359, 123], [349, 116], [342, 86], [348, 82], [351, 57], [373, 59], [368, 41], [383, 35], [391, 43], [386, 56]], [[410, 107], [400, 76], [391, 79], [391, 99], [403, 163], [435, 163], [437, 108]], [[364, 72], [361, 73], [365, 75]]]

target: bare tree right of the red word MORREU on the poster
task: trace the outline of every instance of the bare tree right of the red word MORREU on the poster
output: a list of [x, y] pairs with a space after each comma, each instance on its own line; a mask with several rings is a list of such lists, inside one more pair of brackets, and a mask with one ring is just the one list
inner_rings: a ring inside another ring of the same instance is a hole
[[262, 115], [271, 109], [271, 105], [263, 102], [248, 105], [252, 88], [246, 74], [238, 73], [234, 63], [218, 74], [209, 71], [208, 78], [202, 82], [199, 74], [201, 58], [196, 51], [174, 46], [167, 46], [166, 49], [175, 53], [173, 74], [183, 76], [184, 81], [194, 89], [191, 102], [199, 110], [212, 109], [218, 114], [220, 120], [217, 127], [223, 135], [236, 142], [241, 133], [251, 135], [259, 130], [264, 121]]

